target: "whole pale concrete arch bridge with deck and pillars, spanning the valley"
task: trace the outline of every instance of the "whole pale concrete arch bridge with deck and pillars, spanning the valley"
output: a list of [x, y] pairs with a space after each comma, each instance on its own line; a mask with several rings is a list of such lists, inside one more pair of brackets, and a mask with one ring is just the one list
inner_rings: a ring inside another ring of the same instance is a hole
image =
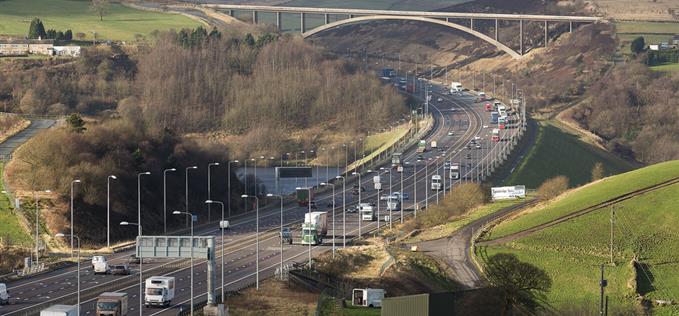
[[[492, 14], [492, 13], [459, 13], [459, 12], [429, 12], [429, 11], [394, 11], [394, 10], [364, 10], [364, 9], [334, 9], [334, 8], [308, 8], [308, 7], [278, 7], [278, 6], [260, 6], [260, 5], [230, 5], [230, 4], [203, 4], [206, 8], [226, 11], [233, 16], [234, 11], [250, 11], [252, 12], [252, 22], [257, 23], [259, 20], [258, 14], [260, 12], [275, 14], [275, 25], [280, 29], [282, 20], [281, 15], [296, 14], [300, 18], [300, 31], [304, 38], [314, 34], [323, 32], [325, 30], [339, 27], [342, 25], [360, 23], [365, 21], [376, 20], [406, 20], [406, 21], [421, 21], [443, 25], [456, 30], [460, 30], [476, 36], [490, 44], [493, 44], [499, 50], [502, 50], [514, 58], [520, 58], [524, 54], [524, 23], [526, 22], [544, 22], [545, 38], [544, 44], [547, 46], [549, 42], [549, 23], [568, 23], [569, 32], [573, 31], [574, 23], [594, 23], [600, 21], [601, 18], [589, 16], [558, 16], [558, 15], [532, 15], [532, 14]], [[308, 15], [323, 16], [324, 23], [318, 27], [307, 29], [306, 18]], [[339, 16], [340, 19], [334, 22], [330, 21], [330, 17]], [[344, 17], [344, 18], [341, 18]], [[468, 26], [459, 23], [459, 21], [469, 21]], [[494, 21], [494, 36], [486, 35], [474, 28], [475, 23], [479, 21]], [[519, 48], [513, 48], [503, 44], [499, 38], [499, 23], [500, 21], [518, 21], [519, 22]]]

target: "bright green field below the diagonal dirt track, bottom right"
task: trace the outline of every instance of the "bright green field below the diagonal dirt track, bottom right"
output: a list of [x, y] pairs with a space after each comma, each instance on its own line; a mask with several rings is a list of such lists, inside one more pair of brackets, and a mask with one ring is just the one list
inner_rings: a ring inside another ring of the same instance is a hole
[[[634, 292], [628, 287], [635, 254], [645, 265], [636, 278], [639, 292], [651, 300], [679, 298], [679, 255], [674, 251], [679, 249], [678, 203], [679, 185], [673, 185], [617, 205], [613, 217], [616, 264], [606, 266], [611, 306], [635, 303]], [[592, 305], [599, 291], [597, 266], [609, 262], [609, 241], [610, 210], [602, 209], [487, 251], [511, 252], [547, 271], [554, 282], [550, 303], [561, 306], [585, 301]], [[657, 308], [653, 314], [677, 313], [679, 307], [674, 306]]]

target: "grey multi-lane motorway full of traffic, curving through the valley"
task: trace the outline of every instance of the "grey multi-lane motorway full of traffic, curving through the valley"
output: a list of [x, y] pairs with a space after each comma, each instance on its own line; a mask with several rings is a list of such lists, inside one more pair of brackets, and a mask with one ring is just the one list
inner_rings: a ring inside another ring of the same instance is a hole
[[[441, 87], [439, 87], [440, 90]], [[438, 98], [442, 98], [442, 102], [437, 102]], [[417, 198], [420, 211], [425, 205], [425, 196], [428, 195], [428, 203], [435, 203], [437, 199], [443, 197], [443, 192], [438, 195], [435, 191], [430, 190], [430, 181], [434, 174], [444, 174], [444, 158], [437, 161], [436, 156], [445, 157], [445, 160], [452, 160], [453, 162], [463, 163], [462, 172], [467, 174], [467, 178], [473, 178], [472, 173], [477, 169], [473, 169], [480, 164], [486, 164], [498, 152], [499, 146], [507, 146], [507, 142], [495, 143], [490, 141], [490, 133], [492, 126], [489, 126], [489, 114], [484, 112], [483, 104], [475, 103], [475, 97], [470, 94], [463, 94], [460, 96], [448, 96], [435, 94], [433, 102], [430, 103], [430, 112], [434, 117], [434, 124], [431, 132], [427, 135], [427, 142], [432, 140], [438, 142], [439, 147], [443, 147], [445, 152], [430, 150], [423, 154], [423, 160], [417, 161], [417, 153], [415, 148], [405, 150], [402, 160], [410, 162], [411, 167], [406, 167], [403, 172], [403, 191], [409, 195], [409, 199], [404, 200], [404, 211], [393, 212], [392, 220], [400, 221], [401, 214], [404, 217], [412, 216], [415, 198]], [[453, 132], [449, 136], [449, 132]], [[518, 129], [504, 130], [503, 138], [509, 138], [510, 134], [517, 133]], [[481, 149], [467, 149], [470, 140], [475, 136], [483, 139]], [[467, 159], [467, 156], [471, 159]], [[483, 161], [483, 162], [482, 162]], [[412, 167], [415, 164], [416, 167]], [[425, 168], [425, 164], [428, 167]], [[468, 167], [471, 165], [471, 169]], [[438, 170], [437, 170], [438, 165]], [[417, 182], [415, 182], [415, 169], [417, 170]], [[425, 174], [428, 172], [427, 174]], [[366, 191], [361, 194], [362, 202], [377, 202], [377, 192], [372, 188], [372, 176], [375, 173], [365, 174], [362, 176], [361, 186], [366, 188]], [[389, 176], [392, 176], [392, 188], [389, 188]], [[447, 172], [445, 173], [447, 176]], [[445, 177], [444, 177], [445, 178]], [[401, 191], [401, 174], [392, 171], [390, 174], [382, 174], [383, 192]], [[385, 181], [386, 179], [386, 181]], [[464, 180], [461, 180], [464, 181]], [[359, 222], [357, 213], [342, 213], [342, 184], [341, 181], [336, 181], [336, 211], [333, 217], [329, 215], [328, 237], [324, 239], [322, 245], [311, 247], [312, 255], [316, 256], [322, 252], [332, 249], [333, 229], [335, 232], [335, 246], [339, 249], [343, 247], [343, 231], [346, 231], [346, 242], [350, 245], [353, 238], [358, 236]], [[417, 183], [417, 190], [415, 191], [415, 183]], [[458, 184], [459, 181], [454, 182], [453, 185]], [[450, 188], [451, 183], [446, 179], [446, 187]], [[353, 195], [352, 182], [347, 182], [346, 204], [347, 208], [355, 205], [358, 202], [358, 196]], [[429, 192], [426, 192], [429, 190]], [[332, 213], [332, 208], [327, 207], [332, 202], [332, 191], [328, 190], [324, 193], [319, 193], [316, 197], [316, 204], [319, 210], [327, 210]], [[276, 203], [272, 203], [276, 205]], [[381, 203], [380, 216], [382, 221], [380, 229], [388, 227], [388, 222], [384, 221], [384, 215], [388, 214], [386, 211], [386, 203]], [[298, 207], [290, 204], [284, 207], [284, 225], [291, 226], [300, 223], [304, 219], [306, 208]], [[220, 231], [217, 225], [214, 227], [197, 229], [196, 235], [215, 235], [218, 244], [216, 252], [217, 262], [217, 292], [220, 291], [219, 284], [221, 283], [221, 256], [224, 255], [224, 286], [226, 291], [239, 290], [250, 286], [255, 282], [255, 218], [254, 212], [249, 215], [232, 220], [232, 228], [225, 232], [224, 240], [221, 239]], [[343, 226], [343, 219], [346, 219], [346, 227]], [[361, 234], [365, 235], [374, 232], [377, 229], [378, 222], [361, 222]], [[271, 277], [274, 275], [276, 268], [280, 264], [280, 239], [278, 237], [278, 228], [280, 227], [280, 209], [262, 209], [260, 210], [260, 279]], [[299, 227], [299, 225], [293, 226]], [[267, 231], [268, 232], [265, 232]], [[295, 229], [295, 239], [299, 241], [300, 232]], [[222, 243], [224, 251], [222, 252]], [[309, 246], [295, 243], [293, 245], [283, 246], [283, 260], [285, 263], [291, 262], [305, 262], [308, 260]], [[125, 262], [133, 250], [113, 254], [108, 259], [113, 263]], [[170, 267], [170, 268], [168, 268]], [[136, 265], [133, 269], [138, 268]], [[11, 304], [0, 306], [0, 314], [2, 315], [32, 315], [39, 313], [39, 308], [50, 306], [53, 304], [63, 303], [67, 299], [75, 297], [76, 292], [76, 273], [75, 267], [59, 269], [46, 274], [35, 276], [32, 278], [23, 279], [20, 281], [7, 284], [10, 294], [12, 296]], [[172, 301], [170, 307], [167, 308], [143, 308], [144, 315], [176, 315], [180, 309], [186, 310], [190, 300], [190, 272], [187, 259], [149, 259], [145, 260], [143, 265], [144, 278], [157, 275], [155, 272], [163, 271], [164, 274], [174, 276], [177, 280], [176, 296]], [[113, 275], [94, 275], [90, 267], [89, 260], [84, 259], [80, 269], [81, 278], [81, 295], [86, 293], [88, 289], [90, 292], [93, 288], [101, 288], [102, 285], [107, 285], [107, 291], [121, 291], [129, 295], [129, 313], [137, 314], [139, 309], [139, 270], [133, 270], [129, 276], [113, 276]], [[205, 260], [194, 261], [194, 300], [196, 302], [205, 300], [207, 291], [207, 266]], [[123, 282], [127, 280], [129, 282]], [[122, 285], [118, 285], [122, 284]], [[131, 285], [130, 285], [131, 284]], [[91, 293], [90, 297], [96, 297], [98, 293]], [[85, 295], [82, 295], [85, 297]], [[95, 300], [93, 298], [85, 298], [81, 302], [81, 314], [93, 315], [95, 310]], [[228, 304], [228, 302], [227, 302]]]

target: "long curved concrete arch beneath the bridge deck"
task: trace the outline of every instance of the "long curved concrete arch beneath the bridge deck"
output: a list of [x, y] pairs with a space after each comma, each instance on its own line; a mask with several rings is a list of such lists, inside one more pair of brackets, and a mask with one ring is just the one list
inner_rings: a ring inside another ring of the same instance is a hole
[[335, 21], [332, 23], [324, 24], [319, 27], [316, 27], [314, 29], [311, 29], [309, 31], [306, 31], [302, 33], [303, 38], [307, 38], [310, 36], [313, 36], [315, 34], [318, 34], [320, 32], [326, 31], [331, 28], [335, 28], [338, 26], [343, 26], [346, 24], [353, 24], [353, 23], [359, 23], [359, 22], [365, 22], [365, 21], [379, 21], [379, 20], [408, 20], [408, 21], [420, 21], [420, 22], [427, 22], [427, 23], [434, 23], [438, 25], [443, 25], [446, 27], [450, 27], [462, 32], [465, 32], [467, 34], [473, 35], [475, 37], [478, 37], [490, 44], [493, 44], [496, 48], [499, 50], [504, 51], [505, 53], [509, 54], [512, 56], [512, 58], [518, 59], [521, 58], [521, 55], [517, 53], [515, 50], [511, 49], [505, 44], [500, 43], [499, 41], [496, 41], [494, 38], [485, 35], [481, 32], [475, 31], [471, 28], [468, 28], [466, 26], [462, 26], [459, 24], [447, 22], [447, 21], [442, 21], [438, 19], [433, 19], [433, 18], [427, 18], [427, 17], [418, 17], [418, 16], [404, 16], [404, 15], [370, 15], [370, 16], [359, 16], [359, 17], [353, 17], [353, 18], [348, 18], [348, 19], [343, 19], [339, 21]]

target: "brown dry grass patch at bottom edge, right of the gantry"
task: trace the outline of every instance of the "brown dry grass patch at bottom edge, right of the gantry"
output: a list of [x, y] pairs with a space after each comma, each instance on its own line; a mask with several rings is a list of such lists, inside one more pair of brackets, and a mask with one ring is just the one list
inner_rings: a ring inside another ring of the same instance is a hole
[[227, 298], [229, 315], [314, 315], [318, 294], [307, 292], [287, 282], [269, 279], [260, 283], [260, 290], [245, 290]]

